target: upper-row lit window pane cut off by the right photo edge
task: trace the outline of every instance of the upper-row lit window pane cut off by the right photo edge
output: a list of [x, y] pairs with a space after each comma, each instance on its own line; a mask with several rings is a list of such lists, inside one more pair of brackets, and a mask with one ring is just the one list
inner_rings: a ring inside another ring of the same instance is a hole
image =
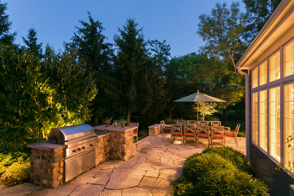
[[294, 74], [294, 41], [285, 47], [284, 76]]

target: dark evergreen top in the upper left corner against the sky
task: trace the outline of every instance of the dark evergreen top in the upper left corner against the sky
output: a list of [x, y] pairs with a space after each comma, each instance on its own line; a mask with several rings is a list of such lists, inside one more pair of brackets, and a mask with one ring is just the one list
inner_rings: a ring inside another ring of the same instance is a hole
[[5, 10], [7, 10], [7, 3], [1, 3], [0, 0], [0, 43], [11, 45], [17, 33], [10, 33], [12, 22], [9, 20], [9, 15], [5, 14]]

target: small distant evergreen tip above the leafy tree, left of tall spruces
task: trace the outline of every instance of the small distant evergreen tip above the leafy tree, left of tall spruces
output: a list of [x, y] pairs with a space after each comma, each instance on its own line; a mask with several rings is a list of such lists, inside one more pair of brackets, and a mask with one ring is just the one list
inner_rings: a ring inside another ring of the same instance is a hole
[[[35, 55], [35, 57], [42, 59], [43, 58], [43, 49], [42, 49], [42, 44], [39, 43], [37, 44], [37, 31], [33, 27], [28, 30], [28, 35], [27, 38], [22, 37], [23, 42], [26, 44], [28, 47], [27, 49], [29, 50], [29, 53], [32, 55]], [[25, 47], [23, 47], [25, 49]]]

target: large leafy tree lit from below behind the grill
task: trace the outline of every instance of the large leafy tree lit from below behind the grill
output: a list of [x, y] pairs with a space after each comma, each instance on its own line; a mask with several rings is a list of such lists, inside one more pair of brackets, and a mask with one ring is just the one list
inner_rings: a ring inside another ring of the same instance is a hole
[[23, 148], [50, 128], [80, 124], [90, 119], [96, 94], [91, 75], [75, 54], [55, 53], [47, 46], [44, 60], [13, 47], [1, 46], [1, 147]]

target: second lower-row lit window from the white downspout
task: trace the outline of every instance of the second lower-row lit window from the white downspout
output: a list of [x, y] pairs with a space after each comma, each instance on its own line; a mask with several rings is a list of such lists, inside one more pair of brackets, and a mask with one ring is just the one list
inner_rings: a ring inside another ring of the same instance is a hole
[[259, 146], [267, 151], [267, 90], [259, 92], [260, 129]]

